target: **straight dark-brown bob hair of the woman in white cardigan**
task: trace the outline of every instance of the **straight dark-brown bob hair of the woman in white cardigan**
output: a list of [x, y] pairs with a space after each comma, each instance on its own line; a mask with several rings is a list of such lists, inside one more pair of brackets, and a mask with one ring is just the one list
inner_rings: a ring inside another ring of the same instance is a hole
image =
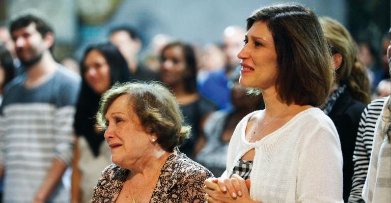
[[256, 10], [247, 18], [266, 22], [277, 54], [276, 91], [281, 101], [320, 106], [328, 97], [333, 79], [329, 46], [318, 17], [297, 3], [277, 4]]

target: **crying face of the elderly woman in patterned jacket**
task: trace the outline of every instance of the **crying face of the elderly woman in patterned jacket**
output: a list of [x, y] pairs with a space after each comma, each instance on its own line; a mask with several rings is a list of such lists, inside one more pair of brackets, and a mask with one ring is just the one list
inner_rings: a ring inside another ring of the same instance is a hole
[[104, 138], [111, 151], [111, 161], [121, 167], [134, 164], [151, 149], [151, 134], [144, 131], [139, 118], [129, 105], [129, 96], [118, 97], [105, 115]]

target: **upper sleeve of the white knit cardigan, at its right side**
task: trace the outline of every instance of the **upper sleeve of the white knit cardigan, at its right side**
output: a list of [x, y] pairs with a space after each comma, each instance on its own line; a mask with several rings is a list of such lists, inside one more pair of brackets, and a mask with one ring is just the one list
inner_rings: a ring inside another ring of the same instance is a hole
[[327, 124], [303, 129], [297, 202], [343, 202], [342, 152], [337, 131]]

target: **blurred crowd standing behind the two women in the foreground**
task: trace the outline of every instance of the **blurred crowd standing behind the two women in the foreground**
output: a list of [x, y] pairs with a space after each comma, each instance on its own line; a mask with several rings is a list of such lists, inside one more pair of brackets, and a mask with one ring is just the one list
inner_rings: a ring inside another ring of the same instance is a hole
[[[377, 53], [336, 20], [320, 21], [336, 79], [319, 108], [340, 136], [344, 200], [361, 202], [374, 125], [391, 95], [388, 31]], [[88, 45], [80, 61], [57, 62], [51, 51], [55, 34], [39, 16], [24, 14], [1, 26], [3, 201], [90, 202], [102, 170], [111, 163], [104, 130], [96, 125], [99, 101], [111, 86], [128, 81], [159, 81], [174, 94], [191, 126], [179, 151], [220, 177], [236, 125], [265, 108], [261, 94], [248, 94], [239, 84], [237, 55], [245, 35], [244, 27], [230, 25], [221, 42], [201, 46], [159, 34], [141, 57], [139, 31], [123, 25], [113, 27], [106, 42]]]

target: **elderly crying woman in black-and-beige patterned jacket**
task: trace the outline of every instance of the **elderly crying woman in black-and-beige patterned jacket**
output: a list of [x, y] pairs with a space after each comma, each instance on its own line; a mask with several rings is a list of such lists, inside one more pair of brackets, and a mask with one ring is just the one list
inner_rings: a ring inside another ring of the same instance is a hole
[[172, 93], [158, 83], [115, 85], [101, 99], [98, 122], [111, 161], [92, 202], [203, 202], [212, 173], [179, 152], [190, 128]]

